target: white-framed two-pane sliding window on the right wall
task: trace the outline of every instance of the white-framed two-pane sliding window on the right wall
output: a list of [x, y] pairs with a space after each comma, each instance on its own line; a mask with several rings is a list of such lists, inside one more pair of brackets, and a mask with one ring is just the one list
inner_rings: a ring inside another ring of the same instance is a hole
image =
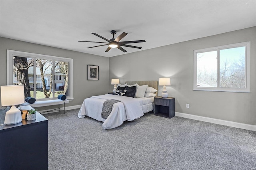
[[194, 51], [194, 90], [250, 92], [250, 42]]

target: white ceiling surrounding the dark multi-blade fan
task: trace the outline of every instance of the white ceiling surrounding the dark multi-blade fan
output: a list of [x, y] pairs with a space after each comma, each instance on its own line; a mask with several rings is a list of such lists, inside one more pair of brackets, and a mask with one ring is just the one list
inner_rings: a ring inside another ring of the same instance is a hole
[[256, 0], [1, 0], [0, 36], [112, 57], [125, 54], [110, 49], [91, 33], [142, 49], [124, 47], [126, 53], [212, 36], [256, 26]]

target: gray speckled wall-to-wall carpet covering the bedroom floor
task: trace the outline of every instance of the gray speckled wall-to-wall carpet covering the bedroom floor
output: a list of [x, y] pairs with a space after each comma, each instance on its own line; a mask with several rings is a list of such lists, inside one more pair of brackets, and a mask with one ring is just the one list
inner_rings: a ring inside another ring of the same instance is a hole
[[120, 127], [49, 113], [49, 170], [256, 170], [256, 132], [147, 113]]

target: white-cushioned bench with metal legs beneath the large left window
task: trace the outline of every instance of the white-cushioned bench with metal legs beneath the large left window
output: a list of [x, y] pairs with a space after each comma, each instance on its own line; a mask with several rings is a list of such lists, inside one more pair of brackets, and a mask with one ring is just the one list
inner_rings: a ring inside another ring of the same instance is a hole
[[[61, 100], [61, 99], [54, 99], [54, 100], [46, 100], [46, 101], [36, 101], [35, 103], [28, 103], [28, 102], [25, 102], [23, 103], [21, 106], [27, 106], [27, 105], [30, 105], [31, 107], [44, 107], [44, 106], [52, 106], [52, 105], [64, 105], [64, 114], [65, 114], [65, 103], [69, 103], [69, 100]], [[57, 108], [58, 111], [60, 111], [60, 107]], [[50, 111], [43, 111], [43, 112], [40, 112], [40, 113], [46, 113], [46, 112], [51, 112], [51, 111], [56, 111], [57, 109], [52, 109]], [[56, 111], [57, 112], [57, 111]]]

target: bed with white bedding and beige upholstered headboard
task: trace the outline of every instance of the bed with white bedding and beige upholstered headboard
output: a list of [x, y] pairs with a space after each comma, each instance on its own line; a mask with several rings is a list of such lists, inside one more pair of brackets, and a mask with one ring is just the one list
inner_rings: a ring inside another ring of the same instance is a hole
[[[140, 86], [148, 85], [158, 90], [158, 81], [126, 81], [128, 85], [138, 84]], [[138, 86], [137, 86], [138, 87]], [[138, 90], [138, 88], [137, 88]], [[157, 91], [154, 92], [157, 95]], [[101, 117], [103, 103], [107, 100], [118, 100], [121, 102], [114, 103], [112, 111], [106, 119]], [[133, 121], [139, 119], [154, 109], [154, 97], [126, 97], [119, 95], [100, 95], [84, 99], [82, 107], [78, 112], [79, 118], [86, 116], [102, 121], [103, 129], [115, 128], [123, 124], [124, 121]]]

